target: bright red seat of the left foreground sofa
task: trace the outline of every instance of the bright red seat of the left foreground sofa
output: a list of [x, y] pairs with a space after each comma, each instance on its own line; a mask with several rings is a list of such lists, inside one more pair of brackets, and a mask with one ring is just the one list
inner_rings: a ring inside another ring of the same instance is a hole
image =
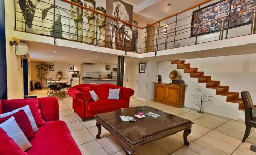
[[81, 154], [70, 131], [63, 121], [51, 121], [39, 127], [39, 131], [29, 140], [32, 147], [27, 150], [28, 154]]

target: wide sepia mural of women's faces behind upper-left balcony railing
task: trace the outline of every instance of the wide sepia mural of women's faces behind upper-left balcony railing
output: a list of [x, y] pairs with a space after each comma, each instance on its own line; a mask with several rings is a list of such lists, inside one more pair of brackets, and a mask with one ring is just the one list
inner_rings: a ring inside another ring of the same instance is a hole
[[[106, 14], [106, 0], [70, 0]], [[55, 26], [54, 26], [55, 11]], [[96, 24], [97, 22], [97, 24]], [[105, 46], [106, 18], [61, 0], [16, 1], [16, 30]]]

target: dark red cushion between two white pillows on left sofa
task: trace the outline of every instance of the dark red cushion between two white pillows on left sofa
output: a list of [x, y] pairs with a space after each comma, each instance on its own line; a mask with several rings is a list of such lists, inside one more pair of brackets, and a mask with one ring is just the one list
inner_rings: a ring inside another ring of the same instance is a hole
[[33, 136], [33, 129], [32, 129], [32, 125], [29, 121], [29, 118], [27, 116], [27, 114], [24, 112], [24, 110], [19, 110], [18, 112], [0, 118], [0, 124], [5, 122], [6, 120], [8, 120], [10, 117], [14, 117], [16, 122], [18, 123], [18, 126], [20, 127], [20, 129], [22, 129], [24, 135], [29, 139], [30, 137]]

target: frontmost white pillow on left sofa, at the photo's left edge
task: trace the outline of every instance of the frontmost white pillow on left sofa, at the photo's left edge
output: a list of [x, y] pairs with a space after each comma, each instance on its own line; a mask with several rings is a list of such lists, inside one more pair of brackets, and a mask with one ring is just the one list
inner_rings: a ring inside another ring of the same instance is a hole
[[28, 139], [22, 132], [22, 129], [18, 126], [15, 118], [12, 116], [2, 124], [0, 127], [11, 137], [15, 143], [23, 150], [27, 150], [32, 145], [29, 143]]

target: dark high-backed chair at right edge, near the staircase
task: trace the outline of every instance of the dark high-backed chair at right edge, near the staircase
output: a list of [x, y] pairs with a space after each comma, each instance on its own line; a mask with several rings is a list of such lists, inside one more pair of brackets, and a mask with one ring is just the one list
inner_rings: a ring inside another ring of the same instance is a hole
[[244, 105], [245, 125], [246, 125], [244, 138], [243, 138], [242, 142], [245, 142], [246, 138], [248, 138], [248, 136], [250, 134], [251, 128], [256, 127], [256, 118], [255, 118], [256, 110], [254, 109], [251, 95], [248, 91], [242, 91], [241, 97], [242, 97], [243, 105]]

